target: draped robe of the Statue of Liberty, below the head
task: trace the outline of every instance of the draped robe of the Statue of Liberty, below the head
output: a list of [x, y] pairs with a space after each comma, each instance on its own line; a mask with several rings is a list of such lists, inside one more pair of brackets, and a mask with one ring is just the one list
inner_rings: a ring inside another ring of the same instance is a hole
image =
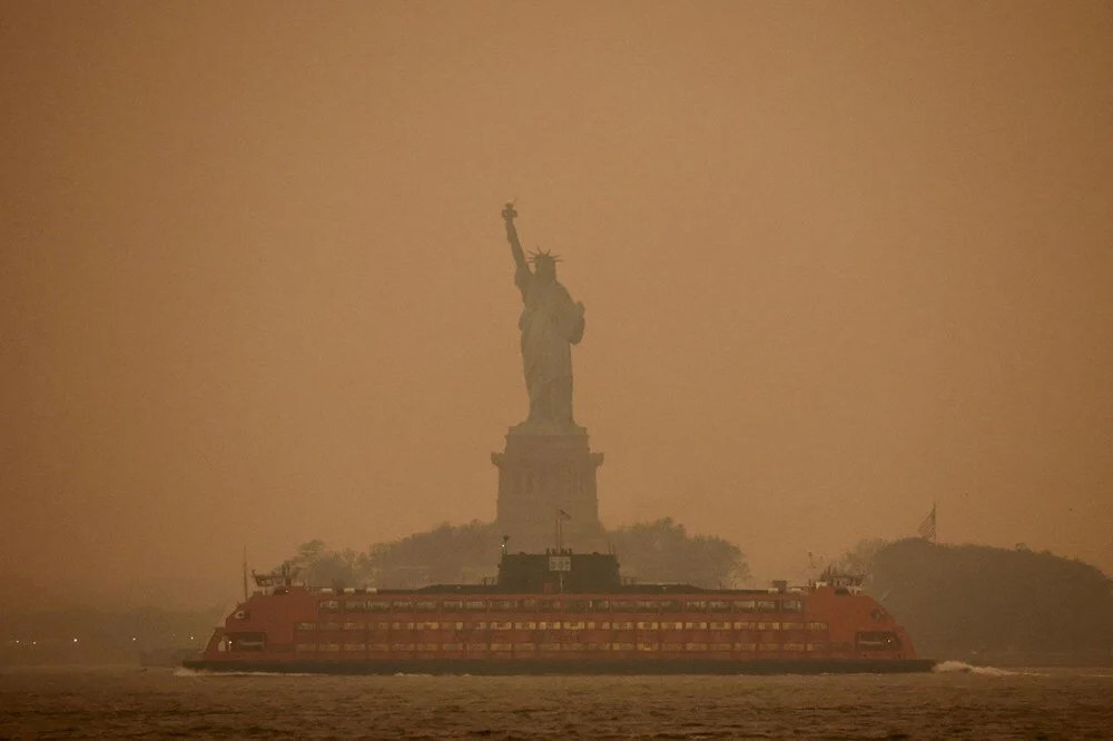
[[526, 266], [514, 275], [522, 292], [522, 363], [534, 425], [571, 428], [572, 345], [583, 337], [583, 314], [555, 279], [538, 278]]

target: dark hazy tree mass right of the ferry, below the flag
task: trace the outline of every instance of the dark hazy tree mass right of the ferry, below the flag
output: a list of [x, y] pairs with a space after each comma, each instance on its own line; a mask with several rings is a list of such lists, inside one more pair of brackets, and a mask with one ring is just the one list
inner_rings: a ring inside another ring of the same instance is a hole
[[1113, 580], [1095, 566], [985, 545], [864, 542], [844, 565], [922, 655], [984, 663], [1113, 662]]

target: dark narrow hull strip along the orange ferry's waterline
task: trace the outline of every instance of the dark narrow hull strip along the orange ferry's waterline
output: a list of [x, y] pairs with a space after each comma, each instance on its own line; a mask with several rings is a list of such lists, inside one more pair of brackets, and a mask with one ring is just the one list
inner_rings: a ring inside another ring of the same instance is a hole
[[903, 674], [928, 672], [930, 659], [769, 660], [769, 661], [489, 661], [426, 659], [407, 661], [186, 661], [187, 669], [215, 672], [306, 674]]

